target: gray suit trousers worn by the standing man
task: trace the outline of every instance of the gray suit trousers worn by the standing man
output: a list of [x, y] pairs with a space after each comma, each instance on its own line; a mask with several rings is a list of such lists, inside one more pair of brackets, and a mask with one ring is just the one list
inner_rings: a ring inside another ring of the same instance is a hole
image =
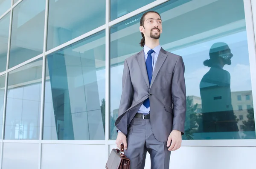
[[131, 160], [131, 169], [144, 169], [146, 152], [150, 154], [151, 169], [169, 169], [171, 152], [166, 144], [154, 137], [150, 120], [134, 117], [128, 127], [125, 150]]

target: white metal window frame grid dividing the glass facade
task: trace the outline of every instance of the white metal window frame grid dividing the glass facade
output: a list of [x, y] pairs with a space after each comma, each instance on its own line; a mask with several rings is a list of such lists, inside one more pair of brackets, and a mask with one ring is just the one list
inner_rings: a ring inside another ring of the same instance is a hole
[[[162, 3], [167, 2], [168, 0], [155, 0], [154, 2], [143, 6], [135, 11], [132, 11], [128, 14], [125, 14], [122, 17], [119, 17], [113, 21], [110, 21], [110, 1], [106, 0], [106, 9], [105, 9], [105, 25], [99, 26], [96, 29], [91, 30], [85, 34], [82, 34], [79, 37], [76, 37], [66, 43], [63, 43], [49, 51], [47, 51], [47, 25], [48, 25], [48, 9], [49, 9], [49, 0], [46, 0], [46, 9], [45, 9], [45, 21], [44, 21], [44, 50], [42, 54], [35, 56], [29, 60], [26, 60], [23, 63], [20, 63], [17, 66], [8, 69], [9, 65], [9, 53], [10, 53], [10, 43], [11, 43], [11, 30], [12, 30], [12, 17], [13, 9], [23, 0], [17, 1], [13, 4], [10, 9], [8, 9], [4, 14], [0, 16], [0, 19], [3, 18], [6, 14], [10, 12], [10, 23], [9, 23], [9, 40], [8, 40], [8, 53], [7, 53], [7, 63], [6, 71], [1, 72], [0, 75], [6, 74], [6, 88], [4, 93], [4, 105], [3, 105], [3, 128], [2, 128], [2, 139], [0, 140], [1, 152], [0, 152], [0, 168], [2, 168], [3, 163], [3, 143], [38, 143], [39, 149], [39, 163], [38, 169], [41, 169], [41, 155], [42, 155], [42, 145], [43, 144], [86, 144], [86, 145], [105, 145], [105, 158], [108, 158], [109, 155], [109, 146], [115, 145], [115, 140], [109, 140], [109, 120], [110, 120], [110, 27], [120, 23], [124, 20], [127, 20], [130, 17], [133, 17], [137, 14], [147, 11], [155, 6], [158, 6]], [[246, 21], [246, 31], [247, 31], [247, 44], [249, 51], [249, 60], [250, 60], [250, 72], [256, 71], [256, 2], [252, 0], [244, 0], [244, 12], [245, 12], [245, 21]], [[254, 18], [253, 18], [254, 16]], [[106, 100], [106, 110], [105, 110], [105, 140], [43, 140], [43, 122], [44, 122], [44, 92], [45, 92], [45, 72], [46, 72], [46, 56], [52, 52], [55, 52], [59, 49], [62, 49], [70, 44], [73, 44], [79, 40], [82, 40], [90, 35], [93, 35], [97, 32], [105, 30], [105, 100]], [[39, 140], [4, 140], [4, 131], [5, 131], [5, 115], [6, 115], [6, 99], [7, 99], [7, 86], [8, 86], [8, 72], [13, 71], [21, 66], [31, 63], [34, 60], [43, 57], [43, 68], [42, 68], [42, 87], [41, 87], [41, 109], [40, 109], [40, 133]], [[252, 92], [253, 92], [253, 105], [256, 105], [256, 75], [251, 73], [251, 83], [252, 83]], [[254, 118], [256, 119], [256, 111], [254, 111]], [[256, 120], [255, 120], [256, 121]], [[256, 127], [256, 126], [255, 126]], [[256, 139], [253, 140], [183, 140], [182, 146], [256, 146]]]

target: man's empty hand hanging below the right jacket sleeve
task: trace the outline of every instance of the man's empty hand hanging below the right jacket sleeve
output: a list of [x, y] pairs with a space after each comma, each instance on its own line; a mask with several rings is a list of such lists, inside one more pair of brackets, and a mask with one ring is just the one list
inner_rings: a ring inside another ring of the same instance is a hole
[[[172, 144], [171, 144], [172, 141]], [[171, 144], [171, 146], [170, 146]], [[169, 147], [170, 146], [170, 147]], [[179, 149], [181, 146], [181, 132], [177, 130], [173, 130], [167, 140], [167, 147], [169, 147], [169, 151], [175, 151]]]

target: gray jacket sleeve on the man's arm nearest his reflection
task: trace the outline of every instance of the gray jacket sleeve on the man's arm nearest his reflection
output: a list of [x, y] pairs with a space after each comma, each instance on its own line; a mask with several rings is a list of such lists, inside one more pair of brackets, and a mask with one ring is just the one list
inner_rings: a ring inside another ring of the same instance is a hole
[[185, 66], [181, 56], [178, 57], [172, 75], [173, 130], [184, 134], [186, 117]]

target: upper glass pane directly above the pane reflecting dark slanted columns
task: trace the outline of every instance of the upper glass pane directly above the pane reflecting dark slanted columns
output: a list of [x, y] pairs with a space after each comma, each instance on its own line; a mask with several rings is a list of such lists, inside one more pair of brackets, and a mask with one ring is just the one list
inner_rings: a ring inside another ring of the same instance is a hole
[[105, 0], [50, 0], [47, 50], [104, 25], [105, 11]]

